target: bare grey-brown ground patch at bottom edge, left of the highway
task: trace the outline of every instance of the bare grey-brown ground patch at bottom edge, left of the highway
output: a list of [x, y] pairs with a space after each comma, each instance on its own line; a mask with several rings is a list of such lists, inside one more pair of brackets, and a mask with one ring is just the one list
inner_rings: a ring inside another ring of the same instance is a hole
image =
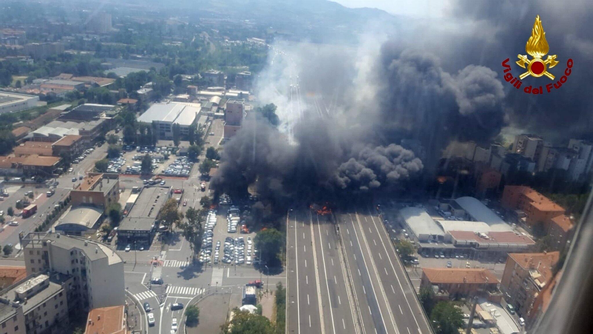
[[186, 327], [187, 334], [219, 334], [221, 325], [227, 320], [231, 294], [210, 295], [199, 303], [200, 323], [196, 327]]

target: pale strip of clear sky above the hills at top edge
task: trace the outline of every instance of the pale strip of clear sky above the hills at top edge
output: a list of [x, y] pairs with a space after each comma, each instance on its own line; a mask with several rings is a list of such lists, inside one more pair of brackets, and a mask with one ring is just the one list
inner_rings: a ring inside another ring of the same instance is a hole
[[346, 7], [370, 7], [390, 12], [391, 14], [441, 17], [448, 8], [444, 0], [332, 0]]

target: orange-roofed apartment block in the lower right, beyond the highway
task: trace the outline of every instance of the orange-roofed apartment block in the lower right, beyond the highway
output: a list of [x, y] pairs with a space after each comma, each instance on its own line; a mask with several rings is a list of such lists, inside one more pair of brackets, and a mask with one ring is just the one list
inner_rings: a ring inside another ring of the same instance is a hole
[[510, 253], [500, 281], [500, 291], [519, 316], [529, 317], [535, 298], [553, 278], [560, 252]]

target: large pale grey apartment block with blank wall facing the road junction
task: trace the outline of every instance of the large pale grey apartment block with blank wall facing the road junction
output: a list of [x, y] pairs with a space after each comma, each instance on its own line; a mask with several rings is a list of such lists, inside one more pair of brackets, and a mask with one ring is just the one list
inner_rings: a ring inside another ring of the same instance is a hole
[[28, 274], [72, 276], [72, 305], [90, 310], [125, 304], [123, 261], [107, 245], [52, 232], [30, 232], [21, 245]]

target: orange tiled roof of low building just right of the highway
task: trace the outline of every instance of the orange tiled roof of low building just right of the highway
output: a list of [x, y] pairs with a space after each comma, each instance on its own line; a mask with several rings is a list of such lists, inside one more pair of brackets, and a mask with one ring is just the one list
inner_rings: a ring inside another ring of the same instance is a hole
[[438, 283], [499, 283], [488, 269], [466, 268], [423, 268], [422, 272], [433, 284]]

